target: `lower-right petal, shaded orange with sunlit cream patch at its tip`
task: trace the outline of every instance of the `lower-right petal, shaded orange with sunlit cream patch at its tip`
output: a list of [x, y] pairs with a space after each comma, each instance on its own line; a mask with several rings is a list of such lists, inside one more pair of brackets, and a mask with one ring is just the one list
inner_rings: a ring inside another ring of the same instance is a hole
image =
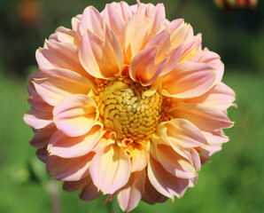
[[156, 154], [164, 169], [175, 177], [192, 178], [198, 172], [190, 162], [177, 154], [171, 146], [158, 145]]

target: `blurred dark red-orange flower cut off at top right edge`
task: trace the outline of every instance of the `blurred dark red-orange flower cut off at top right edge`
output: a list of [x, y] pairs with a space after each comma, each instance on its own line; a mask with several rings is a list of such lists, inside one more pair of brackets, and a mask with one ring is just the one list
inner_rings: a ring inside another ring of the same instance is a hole
[[227, 9], [234, 9], [240, 7], [255, 7], [258, 0], [214, 0], [219, 6], [224, 6]]

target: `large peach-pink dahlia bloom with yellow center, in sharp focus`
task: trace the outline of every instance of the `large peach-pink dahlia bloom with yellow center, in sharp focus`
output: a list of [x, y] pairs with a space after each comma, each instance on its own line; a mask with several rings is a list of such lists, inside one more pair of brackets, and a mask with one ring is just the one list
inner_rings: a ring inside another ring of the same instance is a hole
[[130, 211], [182, 197], [229, 140], [220, 56], [163, 4], [89, 6], [36, 51], [24, 120], [50, 176]]

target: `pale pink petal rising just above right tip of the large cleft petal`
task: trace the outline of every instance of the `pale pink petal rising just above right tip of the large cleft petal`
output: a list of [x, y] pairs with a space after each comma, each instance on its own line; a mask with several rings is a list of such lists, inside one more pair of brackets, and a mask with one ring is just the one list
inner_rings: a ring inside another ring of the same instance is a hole
[[120, 42], [120, 47], [123, 49], [126, 39], [126, 24], [121, 14], [111, 4], [106, 4], [103, 12], [105, 23], [113, 30], [113, 33]]

